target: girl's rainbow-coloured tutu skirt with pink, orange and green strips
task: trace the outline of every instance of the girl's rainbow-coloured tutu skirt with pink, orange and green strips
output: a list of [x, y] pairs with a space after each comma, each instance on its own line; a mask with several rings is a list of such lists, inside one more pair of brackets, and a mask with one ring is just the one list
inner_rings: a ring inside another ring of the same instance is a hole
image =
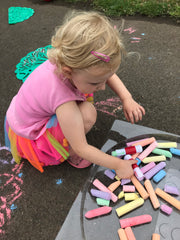
[[[93, 102], [93, 95], [86, 95], [89, 102]], [[17, 135], [5, 119], [5, 143], [11, 149], [17, 164], [21, 159], [27, 159], [32, 166], [43, 172], [43, 167], [59, 165], [69, 157], [69, 144], [59, 126], [56, 115], [46, 124], [46, 131], [36, 140], [30, 140]]]

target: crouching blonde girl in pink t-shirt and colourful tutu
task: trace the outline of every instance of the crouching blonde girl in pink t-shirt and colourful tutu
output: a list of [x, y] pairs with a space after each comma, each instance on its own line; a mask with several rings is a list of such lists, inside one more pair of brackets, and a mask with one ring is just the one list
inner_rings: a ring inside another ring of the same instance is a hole
[[105, 16], [81, 12], [57, 29], [52, 46], [48, 60], [30, 74], [7, 110], [15, 161], [25, 158], [41, 172], [64, 160], [77, 168], [95, 163], [129, 178], [136, 160], [110, 156], [86, 140], [97, 115], [88, 100], [106, 84], [120, 97], [128, 121], [145, 114], [115, 74], [125, 53], [118, 31]]

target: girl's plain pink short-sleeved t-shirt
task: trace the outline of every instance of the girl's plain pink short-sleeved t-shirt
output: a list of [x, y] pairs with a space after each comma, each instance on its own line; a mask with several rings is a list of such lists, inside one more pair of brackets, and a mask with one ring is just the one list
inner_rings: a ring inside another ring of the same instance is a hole
[[49, 60], [37, 67], [21, 86], [7, 110], [7, 121], [19, 136], [35, 140], [46, 131], [56, 108], [68, 101], [85, 101], [68, 79], [58, 76]]

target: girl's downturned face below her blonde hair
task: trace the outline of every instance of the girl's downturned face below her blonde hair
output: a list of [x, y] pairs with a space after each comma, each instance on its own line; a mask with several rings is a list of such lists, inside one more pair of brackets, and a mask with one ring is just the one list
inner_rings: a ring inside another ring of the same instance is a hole
[[106, 82], [114, 72], [96, 66], [85, 70], [72, 70], [71, 82], [82, 93], [94, 93], [105, 90]]

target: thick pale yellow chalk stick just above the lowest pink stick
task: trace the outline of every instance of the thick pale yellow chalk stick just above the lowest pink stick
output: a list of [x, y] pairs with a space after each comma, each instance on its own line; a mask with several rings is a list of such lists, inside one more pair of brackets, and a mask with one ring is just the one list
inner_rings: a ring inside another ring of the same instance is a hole
[[119, 208], [116, 209], [116, 213], [118, 217], [121, 217], [122, 215], [136, 209], [137, 207], [141, 206], [144, 204], [144, 199], [143, 198], [138, 198], [134, 201], [131, 201]]

